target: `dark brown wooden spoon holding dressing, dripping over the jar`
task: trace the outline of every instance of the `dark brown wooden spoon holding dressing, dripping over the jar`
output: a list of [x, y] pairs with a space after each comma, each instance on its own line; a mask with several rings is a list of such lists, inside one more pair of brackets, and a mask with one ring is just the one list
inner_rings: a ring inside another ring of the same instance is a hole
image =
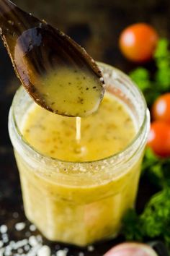
[[64, 116], [87, 116], [104, 95], [102, 73], [68, 35], [0, 1], [0, 30], [17, 77], [34, 101]]

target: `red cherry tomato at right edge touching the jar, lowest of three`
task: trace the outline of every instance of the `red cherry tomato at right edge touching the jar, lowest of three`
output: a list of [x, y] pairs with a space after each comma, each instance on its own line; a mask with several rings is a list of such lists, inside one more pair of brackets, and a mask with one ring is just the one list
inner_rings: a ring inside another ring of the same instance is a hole
[[170, 125], [164, 121], [153, 121], [148, 135], [148, 146], [156, 155], [170, 155]]

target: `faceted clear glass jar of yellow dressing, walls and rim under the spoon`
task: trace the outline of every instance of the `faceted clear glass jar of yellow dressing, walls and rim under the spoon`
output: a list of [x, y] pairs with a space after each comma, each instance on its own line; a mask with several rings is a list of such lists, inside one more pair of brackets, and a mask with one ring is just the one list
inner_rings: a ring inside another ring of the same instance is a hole
[[23, 88], [14, 96], [9, 112], [9, 135], [27, 218], [48, 239], [79, 246], [118, 234], [122, 217], [135, 204], [150, 127], [146, 101], [130, 78], [107, 64], [99, 63], [99, 67], [106, 90], [125, 103], [137, 127], [135, 138], [121, 152], [80, 163], [50, 158], [22, 136], [24, 114], [33, 103]]

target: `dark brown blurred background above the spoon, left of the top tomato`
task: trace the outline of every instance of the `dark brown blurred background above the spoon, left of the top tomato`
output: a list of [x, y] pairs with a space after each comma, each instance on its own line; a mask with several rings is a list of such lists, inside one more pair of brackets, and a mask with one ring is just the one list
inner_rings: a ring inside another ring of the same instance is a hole
[[97, 61], [122, 69], [117, 43], [123, 28], [148, 22], [161, 36], [170, 33], [169, 0], [15, 0], [84, 46]]

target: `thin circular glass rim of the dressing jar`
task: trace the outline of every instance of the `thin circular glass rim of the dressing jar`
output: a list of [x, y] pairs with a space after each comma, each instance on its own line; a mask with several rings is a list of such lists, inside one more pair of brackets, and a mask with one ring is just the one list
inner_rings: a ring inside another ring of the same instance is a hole
[[[54, 162], [54, 163], [68, 163], [68, 164], [73, 164], [73, 165], [75, 165], [75, 164], [84, 165], [84, 164], [89, 164], [89, 163], [102, 163], [104, 161], [109, 161], [111, 159], [118, 158], [120, 155], [128, 153], [130, 151], [130, 149], [133, 148], [133, 145], [135, 144], [136, 140], [138, 140], [138, 137], [140, 137], [140, 135], [142, 134], [143, 129], [146, 127], [146, 123], [149, 120], [149, 113], [148, 113], [148, 108], [147, 108], [147, 105], [146, 105], [146, 100], [145, 100], [145, 98], [143, 96], [143, 93], [138, 88], [138, 86], [135, 85], [135, 82], [133, 82], [130, 79], [130, 77], [128, 77], [127, 74], [125, 74], [124, 72], [120, 71], [120, 69], [112, 67], [109, 64], [104, 64], [104, 63], [99, 62], [99, 61], [97, 61], [97, 64], [99, 65], [99, 68], [106, 67], [107, 69], [112, 69], [112, 71], [115, 72], [116, 74], [118, 74], [118, 76], [123, 77], [125, 80], [127, 80], [128, 83], [130, 83], [133, 86], [133, 89], [135, 89], [138, 92], [138, 95], [140, 95], [140, 101], [143, 102], [143, 121], [141, 122], [141, 125], [138, 128], [138, 132], [133, 137], [133, 140], [131, 140], [130, 143], [128, 143], [128, 145], [123, 150], [120, 150], [117, 153], [109, 155], [108, 157], [100, 158], [100, 159], [94, 160], [94, 161], [65, 161], [65, 160], [61, 160], [61, 159], [58, 159], [58, 158], [53, 158], [53, 157], [50, 157], [50, 156], [45, 155], [43, 153], [40, 153], [40, 151], [38, 151], [34, 147], [32, 147], [32, 145], [30, 145], [29, 142], [24, 140], [24, 137], [22, 136], [22, 133], [20, 132], [20, 129], [19, 129], [18, 125], [17, 125], [17, 120], [16, 120], [15, 114], [14, 114], [14, 106], [15, 106], [15, 104], [17, 102], [17, 94], [24, 90], [24, 88], [20, 87], [17, 90], [17, 93], [15, 94], [13, 102], [12, 102], [12, 107], [13, 107], [13, 108], [11, 108], [12, 119], [13, 119], [13, 122], [14, 122], [14, 127], [17, 130], [17, 135], [19, 135], [19, 138], [22, 141], [22, 144], [24, 145], [24, 147], [27, 148], [27, 150], [30, 151], [30, 153], [34, 153], [35, 155], [37, 155], [37, 157], [40, 157], [41, 159], [44, 158], [46, 161], [49, 160], [50, 162]], [[148, 129], [147, 129], [147, 131], [148, 131]], [[143, 144], [144, 144], [144, 142], [143, 142]], [[138, 150], [138, 148], [135, 150], [135, 152], [137, 150]]]

